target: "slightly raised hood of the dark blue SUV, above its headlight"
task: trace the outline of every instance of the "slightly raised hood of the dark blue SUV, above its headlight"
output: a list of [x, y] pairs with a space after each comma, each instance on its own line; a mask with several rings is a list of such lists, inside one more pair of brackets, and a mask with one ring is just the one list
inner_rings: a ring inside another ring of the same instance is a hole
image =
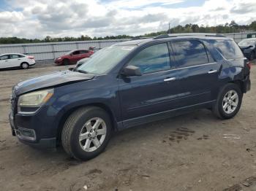
[[86, 81], [93, 79], [93, 74], [83, 74], [75, 71], [58, 71], [39, 77], [27, 79], [15, 85], [15, 95], [20, 95], [33, 90], [39, 90], [47, 87], [55, 87], [74, 82]]

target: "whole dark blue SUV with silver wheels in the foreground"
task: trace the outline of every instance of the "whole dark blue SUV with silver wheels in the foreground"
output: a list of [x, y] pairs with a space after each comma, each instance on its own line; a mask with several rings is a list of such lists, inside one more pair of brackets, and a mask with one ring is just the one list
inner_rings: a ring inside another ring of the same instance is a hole
[[250, 89], [250, 67], [233, 39], [217, 34], [121, 42], [75, 71], [15, 85], [12, 134], [37, 147], [60, 143], [88, 160], [105, 149], [113, 130], [201, 108], [234, 117]]

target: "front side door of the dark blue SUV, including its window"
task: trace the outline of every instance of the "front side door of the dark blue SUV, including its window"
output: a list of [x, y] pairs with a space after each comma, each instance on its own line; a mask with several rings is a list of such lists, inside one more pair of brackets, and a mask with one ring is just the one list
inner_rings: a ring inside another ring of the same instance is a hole
[[171, 63], [167, 43], [146, 47], [129, 61], [142, 75], [118, 79], [124, 128], [178, 107], [178, 82]]

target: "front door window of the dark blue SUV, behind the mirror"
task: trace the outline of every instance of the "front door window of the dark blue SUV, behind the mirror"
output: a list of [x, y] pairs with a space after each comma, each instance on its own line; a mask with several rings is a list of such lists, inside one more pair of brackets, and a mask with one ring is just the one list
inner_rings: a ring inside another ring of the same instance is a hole
[[170, 69], [167, 43], [155, 44], [141, 50], [128, 65], [137, 66], [142, 74]]

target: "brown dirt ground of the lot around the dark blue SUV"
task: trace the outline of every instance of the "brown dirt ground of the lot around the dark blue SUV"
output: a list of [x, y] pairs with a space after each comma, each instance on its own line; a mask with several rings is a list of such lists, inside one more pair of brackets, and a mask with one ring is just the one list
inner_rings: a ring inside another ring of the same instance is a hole
[[256, 65], [233, 119], [205, 109], [129, 128], [83, 163], [21, 144], [8, 122], [12, 85], [62, 69], [0, 71], [0, 190], [256, 190]]

